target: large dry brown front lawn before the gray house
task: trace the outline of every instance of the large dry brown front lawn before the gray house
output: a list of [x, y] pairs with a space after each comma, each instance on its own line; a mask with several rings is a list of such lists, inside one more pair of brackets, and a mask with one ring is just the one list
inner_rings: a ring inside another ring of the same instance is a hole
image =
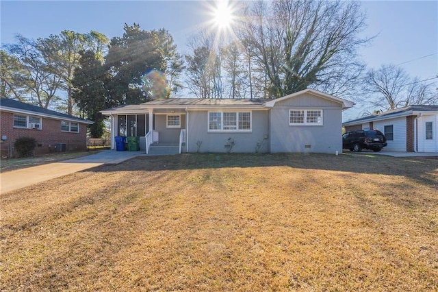
[[434, 291], [438, 160], [134, 158], [1, 195], [2, 291]]

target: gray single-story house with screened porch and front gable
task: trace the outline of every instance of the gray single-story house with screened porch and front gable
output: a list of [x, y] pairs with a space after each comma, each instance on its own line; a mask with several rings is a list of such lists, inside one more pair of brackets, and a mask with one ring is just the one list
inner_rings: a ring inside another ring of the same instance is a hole
[[353, 103], [313, 89], [279, 99], [155, 99], [101, 111], [116, 136], [140, 136], [140, 149], [188, 152], [342, 152], [342, 110]]

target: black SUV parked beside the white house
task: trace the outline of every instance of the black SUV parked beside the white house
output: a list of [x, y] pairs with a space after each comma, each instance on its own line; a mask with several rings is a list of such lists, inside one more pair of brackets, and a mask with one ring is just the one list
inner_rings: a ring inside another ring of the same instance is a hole
[[370, 149], [378, 152], [387, 145], [385, 135], [379, 130], [357, 130], [342, 135], [342, 149], [356, 152]]

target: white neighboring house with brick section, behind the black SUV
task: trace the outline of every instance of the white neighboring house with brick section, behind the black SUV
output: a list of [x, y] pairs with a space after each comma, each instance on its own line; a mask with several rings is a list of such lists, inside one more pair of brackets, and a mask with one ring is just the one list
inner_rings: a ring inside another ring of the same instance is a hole
[[342, 125], [346, 132], [380, 130], [387, 138], [386, 150], [438, 152], [438, 106], [405, 106]]

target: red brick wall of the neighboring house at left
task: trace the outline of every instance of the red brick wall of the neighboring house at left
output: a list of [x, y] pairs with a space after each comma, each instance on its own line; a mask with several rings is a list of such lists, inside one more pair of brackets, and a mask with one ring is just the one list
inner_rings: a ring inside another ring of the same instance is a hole
[[[35, 155], [49, 154], [57, 151], [55, 145], [66, 144], [66, 151], [86, 151], [87, 149], [87, 127], [86, 124], [79, 124], [79, 133], [61, 132], [61, 121], [56, 119], [41, 118], [41, 130], [14, 127], [14, 114], [1, 112], [0, 134], [7, 136], [6, 141], [1, 142], [1, 157], [13, 156], [13, 147], [16, 138], [36, 138], [37, 146]], [[12, 150], [12, 154], [10, 151]]]

